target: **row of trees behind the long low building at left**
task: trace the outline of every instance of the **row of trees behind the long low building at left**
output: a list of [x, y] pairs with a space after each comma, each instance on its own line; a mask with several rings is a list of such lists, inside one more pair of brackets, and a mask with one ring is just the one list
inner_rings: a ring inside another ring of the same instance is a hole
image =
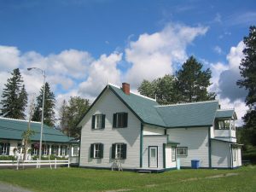
[[[55, 118], [55, 94], [50, 90], [49, 83], [42, 85], [36, 99], [34, 108], [30, 108], [32, 112], [32, 121], [41, 121], [44, 94], [44, 124], [50, 127], [55, 126], [56, 121], [60, 121], [60, 125], [56, 128], [65, 132], [67, 136], [79, 137], [80, 130], [76, 126], [79, 119], [90, 107], [88, 99], [80, 96], [72, 96], [69, 101], [63, 101], [60, 109], [60, 119]], [[0, 115], [11, 119], [26, 119], [26, 106], [28, 102], [28, 94], [19, 68], [15, 68], [11, 73], [11, 77], [4, 84]]]

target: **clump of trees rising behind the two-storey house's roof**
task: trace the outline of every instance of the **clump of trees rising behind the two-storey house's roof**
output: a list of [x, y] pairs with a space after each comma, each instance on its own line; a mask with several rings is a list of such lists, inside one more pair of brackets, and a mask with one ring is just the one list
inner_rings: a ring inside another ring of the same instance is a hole
[[160, 104], [214, 100], [216, 94], [207, 90], [212, 72], [202, 67], [194, 56], [190, 56], [175, 75], [166, 74], [151, 82], [144, 79], [138, 91], [143, 96], [156, 98]]

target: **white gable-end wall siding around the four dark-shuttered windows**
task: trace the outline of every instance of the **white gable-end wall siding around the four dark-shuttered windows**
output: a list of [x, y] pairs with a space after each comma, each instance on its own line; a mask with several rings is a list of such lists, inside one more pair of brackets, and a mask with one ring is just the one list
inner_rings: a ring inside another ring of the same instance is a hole
[[[113, 128], [113, 113], [128, 113], [128, 127]], [[106, 114], [105, 129], [92, 130], [91, 117], [96, 113]], [[140, 129], [139, 119], [113, 94], [105, 90], [95, 105], [86, 114], [82, 122], [81, 148], [79, 166], [111, 167], [113, 143], [126, 143], [126, 160], [122, 160], [123, 168], [138, 168], [140, 162]], [[104, 153], [102, 159], [90, 159], [90, 144], [103, 143]]]

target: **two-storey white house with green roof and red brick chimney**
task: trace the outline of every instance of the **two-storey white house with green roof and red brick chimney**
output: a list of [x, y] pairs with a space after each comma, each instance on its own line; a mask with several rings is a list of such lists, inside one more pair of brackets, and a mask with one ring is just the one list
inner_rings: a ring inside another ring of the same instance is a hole
[[160, 105], [152, 98], [108, 84], [79, 122], [79, 166], [162, 172], [191, 167], [241, 166], [236, 113], [218, 101]]

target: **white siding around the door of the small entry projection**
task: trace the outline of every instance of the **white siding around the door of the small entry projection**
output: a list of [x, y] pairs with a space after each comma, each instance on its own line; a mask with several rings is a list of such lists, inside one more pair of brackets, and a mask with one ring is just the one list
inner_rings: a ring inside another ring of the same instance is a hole
[[148, 168], [148, 147], [158, 147], [158, 168], [163, 168], [163, 143], [167, 136], [143, 136], [143, 168]]

